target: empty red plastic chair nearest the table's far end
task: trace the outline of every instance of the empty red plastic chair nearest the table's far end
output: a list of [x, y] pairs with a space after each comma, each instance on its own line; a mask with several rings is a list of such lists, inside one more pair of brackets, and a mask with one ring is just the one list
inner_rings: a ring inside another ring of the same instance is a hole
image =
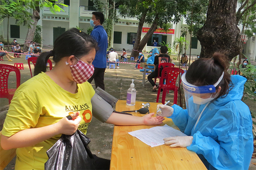
[[[166, 92], [169, 91], [169, 90], [172, 90], [172, 91], [174, 91], [174, 102], [173, 102], [173, 104], [177, 104], [179, 86], [176, 86], [176, 80], [179, 78], [179, 75], [181, 77], [181, 75], [183, 73], [184, 73], [184, 70], [179, 69], [179, 68], [175, 68], [175, 67], [166, 67], [166, 68], [163, 69], [162, 75], [161, 75], [161, 78], [160, 78], [160, 81], [159, 81], [159, 86], [158, 86], [157, 103], [158, 103], [158, 100], [159, 100], [161, 89], [163, 89], [162, 103], [165, 104]], [[165, 82], [165, 84], [163, 82]], [[180, 82], [179, 82], [178, 85], [180, 85]]]

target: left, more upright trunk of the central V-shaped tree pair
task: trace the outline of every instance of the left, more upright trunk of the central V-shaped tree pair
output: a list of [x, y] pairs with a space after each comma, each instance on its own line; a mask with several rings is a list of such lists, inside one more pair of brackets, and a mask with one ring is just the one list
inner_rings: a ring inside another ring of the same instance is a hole
[[[140, 45], [142, 28], [143, 28], [143, 24], [145, 22], [146, 14], [147, 14], [146, 12], [142, 13], [142, 16], [140, 18], [138, 29], [137, 29], [136, 40], [135, 40], [135, 43], [133, 46], [133, 51], [131, 52], [131, 57], [134, 57], [135, 60], [137, 60], [137, 57], [139, 56], [139, 45]], [[135, 51], [135, 50], [137, 50], [137, 51]]]

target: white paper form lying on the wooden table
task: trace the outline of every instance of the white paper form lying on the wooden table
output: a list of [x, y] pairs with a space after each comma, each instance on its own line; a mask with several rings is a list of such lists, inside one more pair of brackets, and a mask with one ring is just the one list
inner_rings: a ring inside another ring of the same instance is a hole
[[166, 124], [164, 126], [152, 127], [150, 129], [140, 129], [128, 133], [151, 147], [165, 144], [163, 139], [166, 137], [187, 136], [181, 131], [169, 127]]

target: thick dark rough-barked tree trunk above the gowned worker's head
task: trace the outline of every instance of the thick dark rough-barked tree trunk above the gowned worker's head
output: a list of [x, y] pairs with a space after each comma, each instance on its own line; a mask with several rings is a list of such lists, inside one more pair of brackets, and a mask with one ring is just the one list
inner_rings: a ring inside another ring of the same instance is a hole
[[198, 30], [200, 58], [210, 58], [214, 52], [227, 56], [227, 63], [241, 51], [240, 30], [236, 25], [237, 0], [209, 0], [206, 23]]

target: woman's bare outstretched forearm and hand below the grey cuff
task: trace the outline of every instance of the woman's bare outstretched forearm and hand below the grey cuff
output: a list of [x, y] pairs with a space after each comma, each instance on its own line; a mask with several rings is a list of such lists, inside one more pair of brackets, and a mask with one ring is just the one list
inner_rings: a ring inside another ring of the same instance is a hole
[[143, 117], [124, 115], [113, 112], [106, 123], [114, 125], [159, 125], [163, 123], [162, 116], [152, 117], [155, 113], [146, 114]]

